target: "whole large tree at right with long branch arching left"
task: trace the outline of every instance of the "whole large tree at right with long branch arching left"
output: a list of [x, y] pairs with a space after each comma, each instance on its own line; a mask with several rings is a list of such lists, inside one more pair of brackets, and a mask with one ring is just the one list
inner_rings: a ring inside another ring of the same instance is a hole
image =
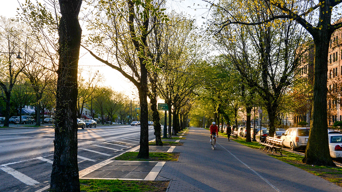
[[[312, 36], [315, 47], [313, 108], [310, 123], [310, 139], [307, 143], [304, 159], [302, 160], [303, 163], [310, 165], [336, 166], [331, 160], [328, 147], [326, 87], [329, 45], [334, 43], [331, 42], [331, 35], [342, 27], [341, 20], [337, 21], [336, 17], [332, 16], [334, 14], [333, 9], [340, 3], [341, 1], [335, 0], [319, 0], [318, 3], [313, 0], [306, 2], [267, 0], [260, 2], [260, 4], [269, 10], [270, 15], [268, 18], [255, 22], [233, 16], [233, 18], [225, 18], [224, 21], [218, 22], [222, 24], [220, 26], [223, 28], [230, 24], [259, 25], [280, 19], [292, 19]], [[211, 5], [216, 6], [212, 3]], [[223, 10], [230, 13], [230, 10]], [[317, 15], [318, 19], [316, 19]]]

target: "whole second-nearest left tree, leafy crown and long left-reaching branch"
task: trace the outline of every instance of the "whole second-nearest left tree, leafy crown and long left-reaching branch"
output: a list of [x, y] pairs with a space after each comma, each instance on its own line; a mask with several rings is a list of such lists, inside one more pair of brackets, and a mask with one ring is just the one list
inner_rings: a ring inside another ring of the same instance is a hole
[[[160, 2], [155, 1], [99, 1], [96, 3], [97, 13], [89, 28], [94, 33], [90, 42], [98, 45], [97, 49], [106, 54], [97, 56], [87, 49], [92, 56], [102, 63], [118, 70], [137, 88], [140, 100], [140, 150], [139, 158], [148, 158], [148, 105], [147, 105], [147, 76], [153, 70], [153, 53], [149, 41], [157, 20], [165, 22], [164, 9]], [[154, 19], [158, 18], [158, 19]], [[108, 38], [110, 37], [110, 38]], [[100, 53], [100, 52], [98, 52]], [[116, 61], [112, 62], [111, 58]]]

